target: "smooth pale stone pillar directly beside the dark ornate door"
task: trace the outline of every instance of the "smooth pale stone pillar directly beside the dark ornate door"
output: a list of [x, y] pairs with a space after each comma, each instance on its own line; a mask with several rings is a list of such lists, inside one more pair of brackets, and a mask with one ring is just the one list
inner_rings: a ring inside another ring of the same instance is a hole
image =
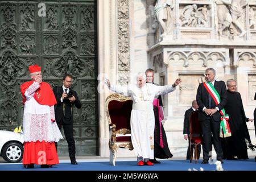
[[[98, 0], [98, 80], [99, 86], [104, 84], [104, 77], [110, 82], [117, 80], [117, 52], [116, 52], [116, 4], [113, 0]], [[98, 90], [99, 91], [99, 90]], [[100, 127], [99, 155], [109, 156], [109, 126], [105, 114], [105, 99], [109, 91], [99, 93], [98, 117]]]

